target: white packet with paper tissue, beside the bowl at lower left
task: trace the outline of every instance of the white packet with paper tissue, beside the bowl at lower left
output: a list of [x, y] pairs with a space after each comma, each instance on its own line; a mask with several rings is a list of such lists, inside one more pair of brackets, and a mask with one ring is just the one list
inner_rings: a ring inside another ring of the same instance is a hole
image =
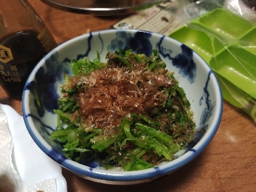
[[32, 141], [23, 117], [0, 104], [0, 191], [65, 192], [66, 185], [61, 166]]

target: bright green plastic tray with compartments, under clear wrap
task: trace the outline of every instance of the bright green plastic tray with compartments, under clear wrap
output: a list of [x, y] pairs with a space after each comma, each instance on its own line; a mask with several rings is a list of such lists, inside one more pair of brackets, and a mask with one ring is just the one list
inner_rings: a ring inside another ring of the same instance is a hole
[[216, 7], [170, 35], [196, 51], [215, 72], [224, 99], [256, 122], [256, 26]]

